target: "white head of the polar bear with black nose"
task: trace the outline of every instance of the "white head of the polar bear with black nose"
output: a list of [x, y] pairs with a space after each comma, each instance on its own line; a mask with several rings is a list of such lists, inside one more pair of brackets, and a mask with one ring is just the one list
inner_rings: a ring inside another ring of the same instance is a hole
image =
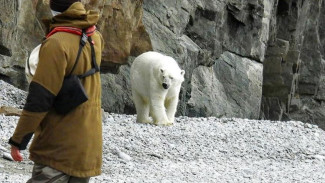
[[171, 70], [163, 67], [159, 71], [159, 84], [166, 90], [170, 87], [179, 86], [184, 81], [184, 70], [179, 68]]

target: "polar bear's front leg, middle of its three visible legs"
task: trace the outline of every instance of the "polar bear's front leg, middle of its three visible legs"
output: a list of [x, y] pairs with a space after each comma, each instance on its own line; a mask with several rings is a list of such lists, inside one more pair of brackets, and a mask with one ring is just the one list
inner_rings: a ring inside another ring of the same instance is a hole
[[164, 97], [151, 96], [150, 98], [150, 113], [153, 118], [153, 122], [156, 125], [169, 125], [170, 122], [166, 115], [164, 106]]

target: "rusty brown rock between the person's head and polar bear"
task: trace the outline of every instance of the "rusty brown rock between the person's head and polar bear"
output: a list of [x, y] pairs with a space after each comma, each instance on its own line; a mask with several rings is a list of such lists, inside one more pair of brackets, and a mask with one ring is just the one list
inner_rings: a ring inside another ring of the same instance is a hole
[[113, 0], [102, 4], [98, 22], [98, 28], [105, 30], [102, 31], [105, 49], [101, 71], [114, 64], [127, 64], [129, 56], [152, 50], [149, 35], [142, 24], [143, 0]]

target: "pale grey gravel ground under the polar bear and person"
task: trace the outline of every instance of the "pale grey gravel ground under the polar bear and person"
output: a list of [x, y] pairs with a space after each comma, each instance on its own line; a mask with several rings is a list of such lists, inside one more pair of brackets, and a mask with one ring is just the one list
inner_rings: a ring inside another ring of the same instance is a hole
[[[0, 81], [0, 104], [25, 93]], [[20, 101], [20, 99], [18, 99]], [[0, 116], [0, 153], [18, 117]], [[181, 116], [169, 127], [105, 113], [103, 174], [91, 182], [325, 182], [325, 132], [299, 121]], [[1, 182], [26, 182], [32, 162], [0, 158]]]

